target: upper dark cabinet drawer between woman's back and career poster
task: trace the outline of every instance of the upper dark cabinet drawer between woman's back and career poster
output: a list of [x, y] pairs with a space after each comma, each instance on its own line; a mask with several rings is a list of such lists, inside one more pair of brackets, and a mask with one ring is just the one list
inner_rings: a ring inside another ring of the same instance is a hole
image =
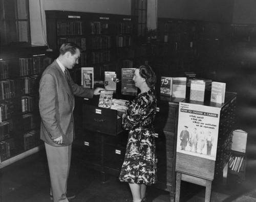
[[155, 129], [174, 133], [176, 124], [175, 115], [175, 108], [160, 106], [154, 121]]

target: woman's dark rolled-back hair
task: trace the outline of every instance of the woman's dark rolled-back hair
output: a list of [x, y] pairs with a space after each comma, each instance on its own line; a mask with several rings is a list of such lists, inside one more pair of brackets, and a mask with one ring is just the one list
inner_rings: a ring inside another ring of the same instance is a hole
[[140, 76], [145, 79], [147, 86], [153, 88], [156, 85], [157, 78], [151, 66], [141, 65], [137, 69], [139, 69]]

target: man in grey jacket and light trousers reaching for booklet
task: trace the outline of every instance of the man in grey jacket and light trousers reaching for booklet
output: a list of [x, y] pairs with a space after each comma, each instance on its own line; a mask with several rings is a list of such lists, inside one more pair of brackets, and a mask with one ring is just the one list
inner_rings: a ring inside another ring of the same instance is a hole
[[75, 197], [75, 194], [67, 194], [71, 148], [75, 136], [74, 95], [92, 98], [104, 90], [83, 88], [72, 81], [67, 69], [78, 64], [80, 50], [74, 43], [62, 44], [58, 58], [42, 73], [39, 84], [40, 138], [45, 141], [51, 180], [50, 196], [54, 202]]

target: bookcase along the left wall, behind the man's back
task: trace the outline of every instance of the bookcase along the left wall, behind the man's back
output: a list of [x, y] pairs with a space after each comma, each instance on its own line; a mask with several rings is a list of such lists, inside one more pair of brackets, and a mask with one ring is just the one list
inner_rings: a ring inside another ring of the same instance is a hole
[[38, 87], [42, 71], [52, 62], [45, 50], [14, 48], [0, 55], [0, 168], [37, 152], [42, 143]]

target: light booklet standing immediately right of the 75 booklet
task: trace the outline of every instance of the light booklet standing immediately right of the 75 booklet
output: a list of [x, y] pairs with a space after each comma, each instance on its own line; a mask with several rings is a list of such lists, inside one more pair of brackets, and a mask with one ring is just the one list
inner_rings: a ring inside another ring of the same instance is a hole
[[186, 77], [173, 78], [173, 97], [186, 97]]

